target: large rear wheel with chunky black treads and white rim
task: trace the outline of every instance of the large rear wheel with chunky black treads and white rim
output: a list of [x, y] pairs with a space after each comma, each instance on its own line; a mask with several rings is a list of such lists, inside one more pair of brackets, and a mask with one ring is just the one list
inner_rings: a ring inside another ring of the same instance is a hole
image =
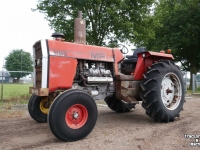
[[142, 107], [155, 121], [169, 122], [179, 117], [185, 102], [182, 73], [173, 61], [162, 60], [151, 66], [141, 82]]

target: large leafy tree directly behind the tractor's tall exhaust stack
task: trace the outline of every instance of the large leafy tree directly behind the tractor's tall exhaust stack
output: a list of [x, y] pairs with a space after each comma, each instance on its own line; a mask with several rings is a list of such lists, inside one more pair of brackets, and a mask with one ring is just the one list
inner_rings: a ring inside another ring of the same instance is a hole
[[39, 0], [36, 9], [45, 14], [49, 25], [73, 41], [74, 18], [78, 10], [86, 19], [88, 44], [106, 45], [107, 41], [134, 39], [155, 0]]

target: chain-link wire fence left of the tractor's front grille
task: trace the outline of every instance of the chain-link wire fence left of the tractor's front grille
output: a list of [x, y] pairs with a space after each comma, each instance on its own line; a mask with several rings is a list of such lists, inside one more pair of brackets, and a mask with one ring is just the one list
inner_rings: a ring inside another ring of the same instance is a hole
[[[21, 78], [11, 78], [11, 73], [19, 73]], [[0, 71], [0, 100], [25, 100], [30, 97], [29, 87], [32, 85], [32, 72]]]

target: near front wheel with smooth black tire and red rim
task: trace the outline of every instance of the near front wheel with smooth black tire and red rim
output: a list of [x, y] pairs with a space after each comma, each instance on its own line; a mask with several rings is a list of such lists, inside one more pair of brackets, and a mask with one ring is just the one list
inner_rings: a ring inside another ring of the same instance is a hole
[[52, 133], [63, 141], [77, 141], [86, 137], [96, 120], [96, 103], [90, 95], [80, 90], [68, 90], [60, 94], [48, 114]]

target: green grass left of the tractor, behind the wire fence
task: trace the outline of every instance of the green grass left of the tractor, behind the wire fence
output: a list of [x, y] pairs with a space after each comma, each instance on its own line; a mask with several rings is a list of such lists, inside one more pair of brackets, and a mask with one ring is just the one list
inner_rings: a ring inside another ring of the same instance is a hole
[[15, 104], [27, 104], [31, 96], [29, 87], [32, 84], [3, 84], [3, 100], [1, 99], [2, 84], [0, 84], [0, 106], [9, 108]]

